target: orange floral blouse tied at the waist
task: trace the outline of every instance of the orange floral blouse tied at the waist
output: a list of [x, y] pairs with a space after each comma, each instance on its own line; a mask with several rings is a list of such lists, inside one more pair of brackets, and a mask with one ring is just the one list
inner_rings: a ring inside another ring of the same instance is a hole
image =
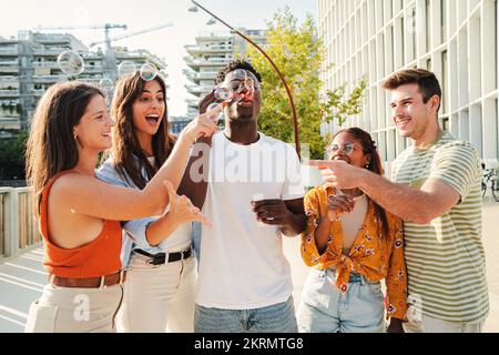
[[376, 215], [374, 203], [368, 207], [363, 226], [348, 255], [343, 255], [342, 222], [332, 222], [327, 247], [319, 254], [315, 242], [315, 231], [326, 216], [328, 197], [334, 189], [323, 186], [310, 190], [305, 196], [307, 227], [302, 234], [302, 257], [308, 266], [319, 270], [336, 270], [336, 286], [347, 291], [350, 272], [364, 275], [368, 281], [385, 278], [387, 287], [387, 318], [406, 320], [407, 274], [404, 261], [404, 231], [400, 219], [387, 212], [389, 235], [385, 237], [381, 222]]

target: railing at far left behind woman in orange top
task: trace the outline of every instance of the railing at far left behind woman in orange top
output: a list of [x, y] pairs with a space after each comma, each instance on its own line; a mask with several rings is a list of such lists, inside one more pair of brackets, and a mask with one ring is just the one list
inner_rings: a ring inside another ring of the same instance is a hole
[[0, 260], [14, 257], [41, 242], [31, 189], [0, 187]]

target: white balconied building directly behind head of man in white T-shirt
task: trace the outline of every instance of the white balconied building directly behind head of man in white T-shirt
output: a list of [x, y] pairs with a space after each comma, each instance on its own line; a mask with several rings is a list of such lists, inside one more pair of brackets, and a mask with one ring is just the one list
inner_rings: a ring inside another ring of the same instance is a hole
[[[267, 42], [265, 31], [238, 29], [258, 45]], [[185, 88], [192, 95], [187, 101], [187, 115], [197, 115], [197, 104], [214, 87], [216, 73], [234, 59], [235, 53], [244, 57], [247, 43], [240, 36], [231, 32], [201, 32], [195, 38], [196, 44], [185, 45], [189, 57], [184, 58], [189, 69], [184, 74], [192, 82]]]

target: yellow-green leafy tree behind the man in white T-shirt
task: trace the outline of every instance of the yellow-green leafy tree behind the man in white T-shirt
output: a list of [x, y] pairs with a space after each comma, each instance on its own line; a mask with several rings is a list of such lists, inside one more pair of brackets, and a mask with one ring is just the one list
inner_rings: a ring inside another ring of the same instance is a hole
[[[345, 99], [346, 85], [327, 91], [320, 100], [323, 82], [319, 79], [325, 58], [323, 41], [318, 38], [312, 14], [298, 26], [289, 8], [279, 10], [267, 22], [268, 44], [265, 52], [279, 68], [289, 84], [298, 115], [299, 142], [308, 143], [310, 158], [324, 156], [325, 141], [320, 136], [320, 123], [337, 120], [343, 124], [348, 115], [360, 113], [363, 91], [367, 83], [363, 79]], [[249, 48], [247, 57], [263, 80], [259, 130], [285, 142], [294, 141], [293, 119], [286, 89], [272, 64], [255, 49]]]

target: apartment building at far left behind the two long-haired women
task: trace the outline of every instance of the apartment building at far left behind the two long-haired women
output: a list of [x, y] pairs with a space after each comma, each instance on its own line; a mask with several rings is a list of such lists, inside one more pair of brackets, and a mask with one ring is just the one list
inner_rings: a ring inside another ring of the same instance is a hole
[[[67, 50], [78, 52], [85, 62], [77, 79], [99, 84], [106, 72], [105, 53], [90, 51], [72, 34], [19, 31], [18, 38], [0, 38], [0, 138], [9, 136], [7, 131], [28, 129], [40, 97], [52, 84], [68, 80], [57, 62], [58, 55]], [[113, 48], [113, 57], [116, 64], [132, 61], [138, 69], [151, 62], [163, 78], [167, 77], [165, 62], [146, 50], [118, 47]]]

